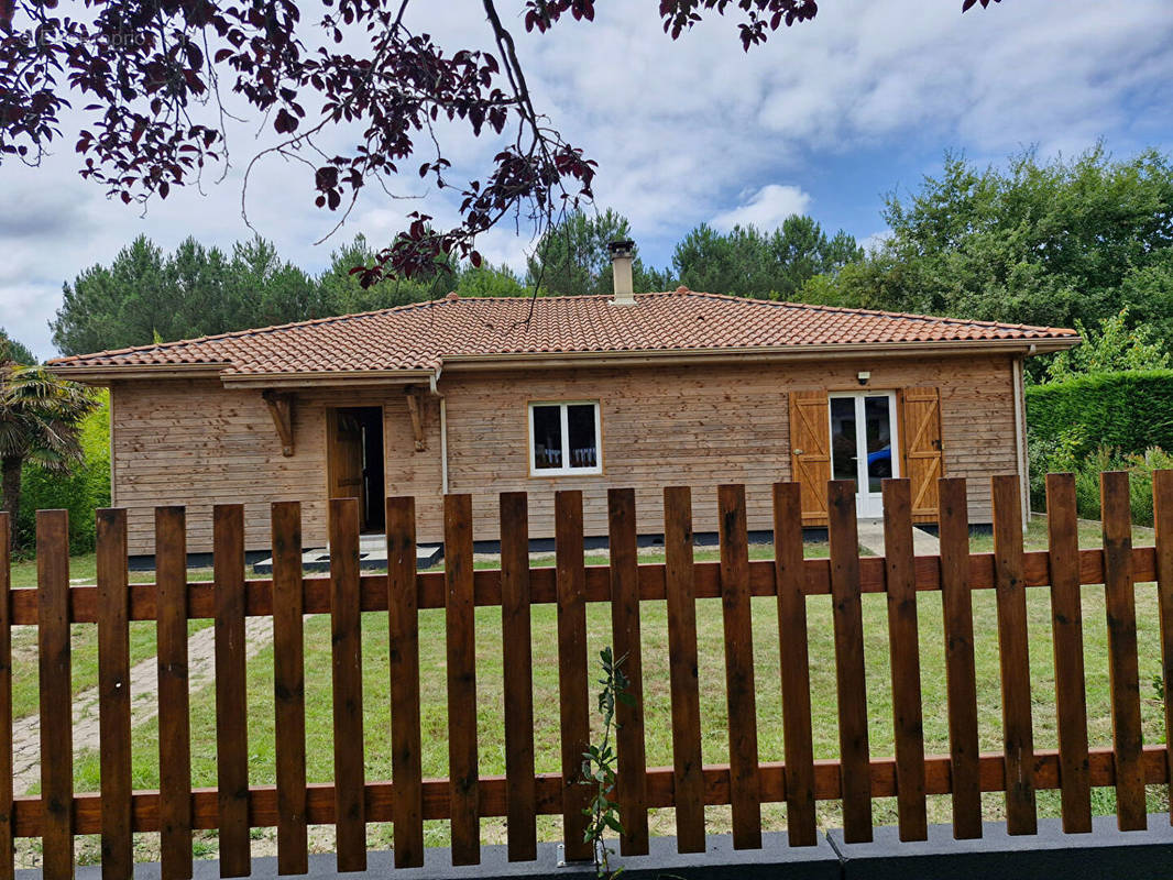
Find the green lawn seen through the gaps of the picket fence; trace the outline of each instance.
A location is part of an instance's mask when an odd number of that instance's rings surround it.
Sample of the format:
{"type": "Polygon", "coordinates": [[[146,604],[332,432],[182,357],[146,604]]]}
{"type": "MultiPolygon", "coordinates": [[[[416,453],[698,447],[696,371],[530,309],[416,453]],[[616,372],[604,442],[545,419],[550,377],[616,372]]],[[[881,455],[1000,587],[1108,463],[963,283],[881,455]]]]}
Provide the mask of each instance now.
{"type": "MultiPolygon", "coordinates": [[[[1138,543],[1151,542],[1151,530],[1138,529],[1138,543]],[[1147,533],[1147,535],[1145,534],[1147,533]]],[[[1098,527],[1091,524],[1082,529],[1084,547],[1098,544],[1098,527]]],[[[976,535],[975,553],[988,551],[989,536],[976,535]]],[[[1045,521],[1035,519],[1026,534],[1028,549],[1045,548],[1045,521]]],[[[769,559],[768,546],[751,546],[754,559],[769,559]]],[[[808,544],[808,556],[826,556],[825,543],[808,544]]],[[[697,560],[717,559],[714,550],[698,550],[697,560]]],[[[663,561],[663,555],[645,551],[644,562],[663,561]]],[[[605,557],[591,554],[589,564],[605,562],[605,557]]],[[[491,562],[479,563],[493,566],[491,562]]],[[[552,557],[537,560],[535,566],[552,564],[552,557]]],[[[940,594],[925,593],[918,596],[920,657],[922,704],[924,706],[924,735],[928,753],[947,753],[948,717],[945,715],[944,645],[941,635],[942,610],[940,594]]],[[[889,678],[887,638],[887,605],[882,595],[863,596],[863,629],[867,668],[868,717],[872,754],[893,754],[893,710],[889,678]]],[[[669,690],[666,609],[663,602],[644,602],[640,607],[643,624],[644,695],[646,713],[646,750],[651,766],[672,764],[671,705],[669,690]]],[[[761,760],[782,759],[781,698],[778,645],[777,604],[771,598],[752,601],[754,628],[754,655],[758,695],[758,737],[761,760]]],[[[832,604],[829,596],[812,596],[807,601],[813,729],[815,757],[838,757],[838,712],[835,690],[835,662],[832,604]]],[[[1089,737],[1092,747],[1111,746],[1111,704],[1107,672],[1107,635],[1101,587],[1083,589],[1084,651],[1086,662],[1086,699],[1089,737]]],[[[1033,709],[1035,744],[1037,749],[1053,749],[1057,745],[1055,712],[1055,662],[1051,645],[1051,609],[1049,594],[1044,588],[1028,590],[1028,614],[1031,663],[1031,704],[1033,709]]],[[[981,747],[983,751],[1001,751],[1001,688],[997,644],[997,612],[992,590],[974,594],[974,617],[976,634],[977,696],[981,747]]],[[[1154,698],[1151,681],[1160,672],[1159,623],[1155,589],[1152,584],[1137,588],[1138,643],[1141,683],[1141,715],[1145,742],[1164,739],[1162,706],[1154,698]]],[[[535,605],[533,610],[534,697],[535,697],[535,758],[538,772],[557,772],[558,716],[557,716],[557,641],[556,609],[551,605],[535,605]]],[[[152,629],[151,624],[143,624],[152,629]]],[[[442,609],[428,609],[420,614],[420,650],[422,686],[422,743],[423,773],[442,778],[447,774],[447,708],[445,684],[445,620],[442,609]]],[[[699,681],[701,702],[701,751],[706,764],[727,760],[727,713],[725,705],[724,635],[719,600],[700,600],[697,603],[697,627],[699,645],[699,681]]],[[[93,630],[93,627],[88,627],[93,630]]],[[[389,730],[389,681],[387,659],[386,617],[381,614],[365,614],[362,617],[364,647],[364,717],[366,777],[368,780],[391,777],[389,730]]],[[[606,605],[592,603],[588,609],[588,644],[590,657],[610,644],[611,628],[606,605]]],[[[306,737],[310,781],[330,781],[333,776],[333,742],[331,722],[330,681],[330,621],[321,615],[306,620],[305,648],[306,669],[306,737]],[[317,670],[317,672],[314,672],[317,670]]],[[[480,772],[482,776],[504,772],[503,752],[503,700],[502,690],[501,616],[499,608],[476,609],[476,670],[477,670],[477,738],[480,743],[480,772]]],[[[141,647],[147,650],[147,644],[141,647]]],[[[81,652],[79,652],[80,655],[81,652]]],[[[75,655],[75,663],[81,659],[75,655]]],[[[272,650],[266,648],[249,665],[249,753],[251,783],[273,781],[273,693],[272,650]]],[[[96,666],[94,666],[96,670],[96,666]]],[[[594,671],[594,670],[592,670],[594,671]]],[[[33,672],[35,681],[35,671],[33,672]]],[[[79,673],[75,676],[81,678],[79,673]]],[[[592,675],[592,679],[595,676],[592,675]]],[[[208,688],[191,698],[192,743],[209,744],[196,747],[192,761],[192,783],[196,786],[216,784],[215,747],[215,689],[208,688]]],[[[157,720],[151,720],[135,732],[134,785],[136,788],[157,787],[157,720]]],[[[86,753],[75,767],[77,791],[96,791],[99,787],[99,757],[86,753]]],[[[1150,808],[1164,810],[1167,805],[1164,788],[1151,788],[1150,808]]],[[[1058,815],[1058,792],[1039,792],[1040,815],[1058,815]]],[[[989,819],[1002,818],[1002,796],[984,796],[985,814],[989,819]]],[[[1093,807],[1097,813],[1114,810],[1111,790],[1094,792],[1093,807]]],[[[710,807],[708,830],[720,833],[728,830],[728,808],[710,807]]],[[[766,805],[762,810],[767,830],[785,827],[785,808],[766,805]]],[[[949,799],[929,799],[930,821],[948,823],[949,799]]],[[[894,824],[896,818],[894,799],[875,801],[877,824],[894,824]]],[[[835,803],[820,803],[820,823],[825,827],[840,824],[835,803]]],[[[672,833],[672,811],[655,811],[651,826],[653,833],[672,833]]],[[[391,830],[385,825],[371,825],[372,847],[389,847],[391,830]]],[[[486,842],[504,840],[504,820],[482,820],[482,839],[486,842]]],[[[560,837],[560,820],[544,817],[540,820],[540,834],[544,839],[560,837]]],[[[156,835],[140,835],[141,858],[155,854],[156,835]]],[[[272,847],[270,831],[257,832],[255,844],[259,852],[272,847]]],[[[312,837],[316,848],[328,849],[331,835],[316,830],[312,837]]],[[[448,842],[445,823],[428,823],[426,840],[429,846],[448,842]]],[[[198,835],[201,853],[212,854],[216,848],[215,833],[198,835]]],[[[91,851],[93,841],[83,848],[91,851]]]]}

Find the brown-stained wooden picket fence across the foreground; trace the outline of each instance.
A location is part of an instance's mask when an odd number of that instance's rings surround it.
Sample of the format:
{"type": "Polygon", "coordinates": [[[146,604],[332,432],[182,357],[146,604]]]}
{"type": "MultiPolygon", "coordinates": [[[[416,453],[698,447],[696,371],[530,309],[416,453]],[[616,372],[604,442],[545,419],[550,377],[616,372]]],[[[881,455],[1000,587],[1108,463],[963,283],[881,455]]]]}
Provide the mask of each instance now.
{"type": "MultiPolygon", "coordinates": [[[[1050,550],[1024,553],[1018,479],[992,480],[995,551],[970,554],[965,483],[940,483],[940,556],[913,554],[907,480],[883,486],[883,557],[861,559],[855,489],[828,483],[830,556],[804,560],[798,483],[773,488],[774,559],[751,561],[741,486],[718,493],[720,562],[693,560],[689,488],[664,490],[663,564],[637,557],[635,494],[609,493],[610,564],[584,564],[582,494],[556,495],[556,566],[530,568],[528,501],[501,495],[501,567],[474,570],[472,502],[445,497],[443,573],[415,569],[412,499],[387,501],[387,575],[359,570],[358,506],[330,503],[331,573],[305,577],[300,510],[272,507],[273,573],[246,580],[239,506],[219,506],[215,519],[215,581],[188,583],[184,510],[156,510],[156,582],[128,584],[127,519],[120,509],[97,516],[97,584],[69,583],[65,512],[38,516],[36,589],[12,589],[0,549],[0,875],[13,875],[14,840],[41,838],[47,878],[74,869],[74,837],[101,834],[103,875],[129,878],[133,834],[158,832],[162,872],[192,871],[194,830],[218,830],[225,876],[250,872],[250,828],[277,828],[280,873],[307,871],[307,825],[337,828],[341,871],[366,866],[368,823],[394,824],[399,867],[423,864],[423,823],[450,824],[455,864],[480,859],[482,817],[508,819],[513,860],[536,858],[536,817],[561,815],[569,859],[590,859],[583,842],[589,788],[578,784],[588,746],[586,603],[609,602],[616,655],[625,656],[632,705],[621,705],[618,727],[622,852],[647,852],[647,811],[676,808],[677,845],[703,852],[706,805],[732,807],[733,842],[760,847],[761,805],[785,803],[793,846],[816,842],[815,803],[842,801],[848,841],[873,834],[873,800],[897,799],[903,840],[924,839],[925,798],[949,794],[957,838],[982,834],[982,792],[1004,792],[1012,834],[1037,827],[1036,792],[1062,788],[1067,832],[1091,828],[1094,786],[1114,786],[1123,830],[1146,824],[1145,785],[1169,780],[1171,746],[1141,740],[1134,584],[1157,582],[1166,685],[1173,683],[1173,472],[1154,481],[1155,547],[1133,548],[1127,474],[1103,475],[1103,549],[1080,550],[1074,483],[1047,478],[1050,550]],[[1080,585],[1104,584],[1107,610],[1113,746],[1089,749],[1084,697],[1080,585]],[[1026,635],[1026,590],[1050,587],[1055,643],[1056,751],[1033,746],[1026,635]],[[971,590],[994,589],[1002,673],[1004,750],[979,753],[971,590]],[[950,753],[927,756],[922,732],[916,593],[940,590],[948,673],[950,753]],[[868,743],[861,594],[887,593],[895,754],[876,758],[868,743]],[[815,760],[807,650],[807,597],[832,596],[838,676],[840,753],[815,760]],[[781,652],[785,753],[759,754],[758,689],[751,597],[775,596],[781,652]],[[696,600],[720,598],[724,615],[728,765],[701,763],[696,600]],[[645,766],[640,603],[666,601],[671,672],[672,767],[645,766]],[[562,772],[535,773],[530,609],[556,603],[562,772]],[[503,777],[481,776],[475,724],[474,609],[501,608],[504,670],[503,777]],[[420,647],[418,614],[446,609],[449,777],[421,774],[420,647]],[[387,615],[391,675],[392,779],[364,777],[360,614],[387,615]],[[303,615],[332,622],[334,774],[306,784],[303,615]],[[273,617],[276,785],[249,785],[245,617],[273,617]],[[192,790],[189,730],[188,621],[215,618],[216,760],[218,785],[192,790]],[[129,693],[130,621],[157,622],[158,791],[131,790],[129,693]],[[96,624],[100,645],[101,791],[74,791],[70,718],[70,623],[96,624]],[[38,627],[40,650],[41,793],[14,797],[12,749],[12,627],[38,627]],[[768,758],[769,760],[764,760],[768,758]],[[778,760],[784,758],[784,760],[778,760]]],[[[659,530],[642,522],[645,532],[659,530]]],[[[9,523],[0,517],[0,548],[9,523]]],[[[1173,716],[1166,704],[1167,735],[1173,716]]],[[[1173,743],[1173,736],[1167,736],[1173,743]]]]}

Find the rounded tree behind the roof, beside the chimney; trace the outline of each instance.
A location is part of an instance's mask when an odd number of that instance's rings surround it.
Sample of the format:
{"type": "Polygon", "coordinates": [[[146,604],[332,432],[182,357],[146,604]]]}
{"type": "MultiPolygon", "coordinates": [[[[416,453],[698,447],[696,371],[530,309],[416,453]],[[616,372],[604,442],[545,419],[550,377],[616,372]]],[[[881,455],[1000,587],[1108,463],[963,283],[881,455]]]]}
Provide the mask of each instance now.
{"type": "MultiPolygon", "coordinates": [[[[610,208],[594,216],[572,211],[538,239],[528,260],[526,285],[542,295],[597,293],[615,290],[611,269],[611,242],[631,238],[628,218],[610,208]]],[[[639,259],[638,248],[631,266],[632,286],[637,293],[667,287],[667,273],[647,269],[639,259]]]]}

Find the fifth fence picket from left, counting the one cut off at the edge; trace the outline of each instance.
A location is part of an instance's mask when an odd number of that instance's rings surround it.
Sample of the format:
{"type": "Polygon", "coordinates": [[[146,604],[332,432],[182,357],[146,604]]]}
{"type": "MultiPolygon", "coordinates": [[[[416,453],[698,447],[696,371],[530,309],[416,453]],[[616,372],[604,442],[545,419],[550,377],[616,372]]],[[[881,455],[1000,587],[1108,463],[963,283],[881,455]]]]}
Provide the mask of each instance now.
{"type": "Polygon", "coordinates": [[[221,876],[248,876],[249,723],[244,659],[244,506],[212,508],[216,582],[216,788],[221,876]]]}

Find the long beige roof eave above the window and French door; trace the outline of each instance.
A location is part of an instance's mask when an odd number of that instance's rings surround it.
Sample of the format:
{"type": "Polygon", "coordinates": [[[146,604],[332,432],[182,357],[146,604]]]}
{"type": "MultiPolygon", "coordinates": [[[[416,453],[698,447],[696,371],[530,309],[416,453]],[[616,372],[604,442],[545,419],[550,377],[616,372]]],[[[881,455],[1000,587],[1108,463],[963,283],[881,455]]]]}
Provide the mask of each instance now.
{"type": "Polygon", "coordinates": [[[825,343],[820,345],[760,346],[752,348],[652,348],[604,352],[523,352],[504,354],[456,354],[445,358],[447,371],[500,370],[502,367],[555,367],[689,363],[753,363],[768,360],[828,360],[845,356],[890,357],[949,354],[1049,354],[1071,348],[1079,337],[1045,339],[952,339],[925,343],[825,343]]]}

